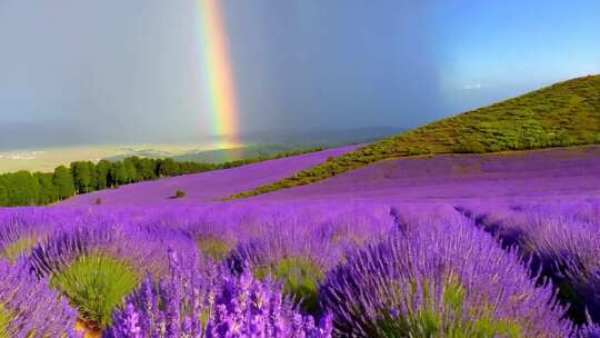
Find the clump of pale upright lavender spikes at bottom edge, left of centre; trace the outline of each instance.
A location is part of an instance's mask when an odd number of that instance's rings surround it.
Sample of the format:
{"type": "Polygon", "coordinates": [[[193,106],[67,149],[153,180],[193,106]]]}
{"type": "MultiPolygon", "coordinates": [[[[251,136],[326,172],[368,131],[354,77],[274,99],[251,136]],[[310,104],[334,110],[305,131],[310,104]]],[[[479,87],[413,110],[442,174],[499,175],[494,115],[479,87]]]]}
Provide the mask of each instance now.
{"type": "Polygon", "coordinates": [[[114,315],[106,337],[330,337],[330,317],[319,325],[294,310],[272,280],[248,269],[234,277],[199,259],[171,252],[170,275],[158,285],[148,277],[114,315]]]}

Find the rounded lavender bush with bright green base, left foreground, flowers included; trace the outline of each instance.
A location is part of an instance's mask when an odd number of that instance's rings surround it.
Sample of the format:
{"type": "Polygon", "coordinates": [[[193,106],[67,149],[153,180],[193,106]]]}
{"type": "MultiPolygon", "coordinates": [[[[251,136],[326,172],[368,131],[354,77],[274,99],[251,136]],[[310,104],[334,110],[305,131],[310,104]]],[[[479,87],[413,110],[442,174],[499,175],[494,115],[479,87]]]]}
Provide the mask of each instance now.
{"type": "Polygon", "coordinates": [[[74,227],[40,242],[30,261],[69,297],[87,327],[104,329],[146,271],[167,271],[166,248],[147,235],[111,223],[74,227]]]}

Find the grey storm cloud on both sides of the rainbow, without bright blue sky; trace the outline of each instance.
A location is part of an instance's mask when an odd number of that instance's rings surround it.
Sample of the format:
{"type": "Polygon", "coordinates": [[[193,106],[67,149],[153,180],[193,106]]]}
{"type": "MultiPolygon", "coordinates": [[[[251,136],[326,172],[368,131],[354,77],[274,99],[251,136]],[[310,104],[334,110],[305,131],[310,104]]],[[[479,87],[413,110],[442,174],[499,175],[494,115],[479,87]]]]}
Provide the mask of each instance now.
{"type": "MultiPolygon", "coordinates": [[[[396,127],[433,109],[420,4],[223,8],[243,131],[396,127]]],[[[24,130],[11,143],[208,136],[198,17],[191,0],[0,2],[0,126],[24,130]]]]}

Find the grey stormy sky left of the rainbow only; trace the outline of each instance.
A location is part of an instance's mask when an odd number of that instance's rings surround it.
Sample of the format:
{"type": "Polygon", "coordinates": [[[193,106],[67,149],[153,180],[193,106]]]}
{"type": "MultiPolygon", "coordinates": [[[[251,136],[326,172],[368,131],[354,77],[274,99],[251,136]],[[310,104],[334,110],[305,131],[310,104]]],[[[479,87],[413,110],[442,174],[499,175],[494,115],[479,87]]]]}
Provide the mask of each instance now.
{"type": "MultiPolygon", "coordinates": [[[[19,122],[58,143],[197,133],[190,4],[0,2],[0,126],[19,122]]],[[[36,137],[21,135],[23,142],[36,137]]]]}

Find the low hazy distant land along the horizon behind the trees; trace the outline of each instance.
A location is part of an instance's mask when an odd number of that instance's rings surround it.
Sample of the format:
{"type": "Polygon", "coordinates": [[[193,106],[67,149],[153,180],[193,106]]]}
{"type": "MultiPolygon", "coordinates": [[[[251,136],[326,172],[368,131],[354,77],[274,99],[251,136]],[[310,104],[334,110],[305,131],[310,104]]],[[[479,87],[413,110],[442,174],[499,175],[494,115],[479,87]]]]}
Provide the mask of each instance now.
{"type": "MultiPolygon", "coordinates": [[[[364,143],[390,137],[402,131],[401,128],[369,127],[354,129],[322,129],[301,130],[297,128],[267,129],[244,131],[236,136],[243,145],[297,145],[301,147],[339,146],[349,143],[364,143]]],[[[0,118],[0,151],[22,149],[48,149],[73,146],[100,146],[100,145],[181,145],[181,143],[218,143],[219,137],[199,136],[177,132],[169,135],[134,132],[122,133],[118,129],[96,129],[90,123],[82,121],[66,121],[60,119],[47,119],[36,121],[7,121],[0,118]]],[[[127,147],[127,146],[123,146],[127,147]]],[[[166,153],[154,153],[153,149],[147,149],[148,157],[164,157],[166,153]]],[[[190,149],[192,150],[192,149],[190,149]]],[[[136,150],[136,151],[139,151],[136,150]]],[[[178,153],[179,155],[179,153],[178,153]]],[[[140,155],[142,156],[142,155],[140,155]]],[[[172,155],[171,155],[172,156],[172,155]]]]}

